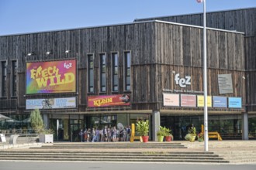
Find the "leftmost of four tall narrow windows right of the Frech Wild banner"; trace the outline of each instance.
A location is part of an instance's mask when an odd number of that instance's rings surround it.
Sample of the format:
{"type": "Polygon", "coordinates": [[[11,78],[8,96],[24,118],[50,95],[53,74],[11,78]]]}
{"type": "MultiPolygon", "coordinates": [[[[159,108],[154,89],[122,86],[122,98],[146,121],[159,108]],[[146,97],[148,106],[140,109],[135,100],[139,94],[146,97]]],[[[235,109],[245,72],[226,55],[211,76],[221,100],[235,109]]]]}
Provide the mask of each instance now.
{"type": "Polygon", "coordinates": [[[88,93],[94,92],[94,57],[88,55],[88,93]]]}

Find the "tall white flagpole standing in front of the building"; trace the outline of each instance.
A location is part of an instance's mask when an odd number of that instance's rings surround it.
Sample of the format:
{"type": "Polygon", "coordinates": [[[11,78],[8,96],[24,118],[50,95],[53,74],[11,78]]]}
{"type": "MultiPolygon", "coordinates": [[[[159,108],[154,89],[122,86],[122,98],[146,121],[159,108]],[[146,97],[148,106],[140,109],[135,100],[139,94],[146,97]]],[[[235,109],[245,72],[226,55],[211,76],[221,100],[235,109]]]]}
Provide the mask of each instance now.
{"type": "Polygon", "coordinates": [[[203,88],[204,88],[204,148],[208,151],[208,107],[207,107],[207,57],[206,57],[206,0],[203,0],[203,88]]]}

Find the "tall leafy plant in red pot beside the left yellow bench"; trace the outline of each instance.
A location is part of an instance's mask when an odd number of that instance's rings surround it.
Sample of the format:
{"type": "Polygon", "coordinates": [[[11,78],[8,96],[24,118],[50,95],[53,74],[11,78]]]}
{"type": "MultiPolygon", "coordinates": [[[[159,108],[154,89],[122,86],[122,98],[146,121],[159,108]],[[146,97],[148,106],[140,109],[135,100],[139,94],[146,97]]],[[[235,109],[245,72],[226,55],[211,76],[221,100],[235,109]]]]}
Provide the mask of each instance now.
{"type": "Polygon", "coordinates": [[[149,132],[149,122],[146,121],[137,121],[136,123],[136,132],[142,137],[143,142],[148,141],[148,132],[149,132]]]}

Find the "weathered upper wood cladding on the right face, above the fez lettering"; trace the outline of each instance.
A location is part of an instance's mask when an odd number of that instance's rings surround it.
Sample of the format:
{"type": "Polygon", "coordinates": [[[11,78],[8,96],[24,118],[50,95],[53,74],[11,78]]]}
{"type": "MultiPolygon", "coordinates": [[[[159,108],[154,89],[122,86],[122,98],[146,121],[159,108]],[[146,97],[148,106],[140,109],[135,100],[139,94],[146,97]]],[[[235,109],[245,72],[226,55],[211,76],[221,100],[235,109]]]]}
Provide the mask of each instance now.
{"type": "MultiPolygon", "coordinates": [[[[202,29],[157,23],[156,63],[202,67],[202,29]]],[[[208,67],[245,70],[244,35],[207,30],[208,67]]]]}

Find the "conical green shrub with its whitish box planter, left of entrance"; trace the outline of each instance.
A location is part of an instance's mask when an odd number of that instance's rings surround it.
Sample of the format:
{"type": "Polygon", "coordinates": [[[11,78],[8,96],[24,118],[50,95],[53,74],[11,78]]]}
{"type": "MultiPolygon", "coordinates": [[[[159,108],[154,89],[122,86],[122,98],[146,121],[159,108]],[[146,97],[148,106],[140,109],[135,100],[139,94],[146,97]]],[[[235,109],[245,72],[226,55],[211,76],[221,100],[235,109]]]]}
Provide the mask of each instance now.
{"type": "Polygon", "coordinates": [[[40,110],[33,110],[30,114],[31,127],[39,134],[39,141],[42,143],[54,143],[54,131],[46,129],[43,124],[43,118],[40,110]]]}

